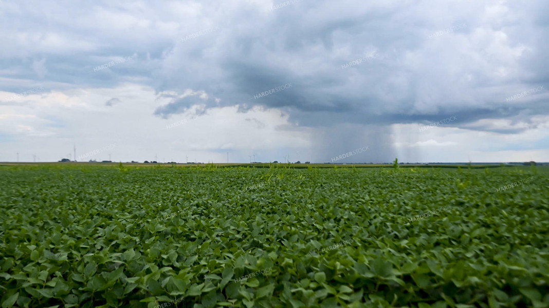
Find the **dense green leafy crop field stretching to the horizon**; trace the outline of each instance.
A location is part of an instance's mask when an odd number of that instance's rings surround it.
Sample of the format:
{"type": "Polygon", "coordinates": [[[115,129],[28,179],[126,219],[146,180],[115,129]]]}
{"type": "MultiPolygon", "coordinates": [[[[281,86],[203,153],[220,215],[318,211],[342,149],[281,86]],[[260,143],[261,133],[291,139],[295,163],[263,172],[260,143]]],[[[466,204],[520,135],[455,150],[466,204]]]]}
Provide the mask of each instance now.
{"type": "Polygon", "coordinates": [[[549,306],[547,168],[160,165],[1,166],[2,306],[549,306]]]}

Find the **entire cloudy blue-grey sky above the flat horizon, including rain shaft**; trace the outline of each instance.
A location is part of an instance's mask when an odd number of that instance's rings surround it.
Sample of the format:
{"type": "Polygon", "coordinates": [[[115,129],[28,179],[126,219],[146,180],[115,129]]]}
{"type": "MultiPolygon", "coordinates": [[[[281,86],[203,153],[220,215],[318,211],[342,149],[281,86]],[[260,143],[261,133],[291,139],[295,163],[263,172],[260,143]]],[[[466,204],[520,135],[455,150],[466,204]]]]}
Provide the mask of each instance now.
{"type": "Polygon", "coordinates": [[[546,12],[0,0],[0,161],[547,162],[546,12]]]}

